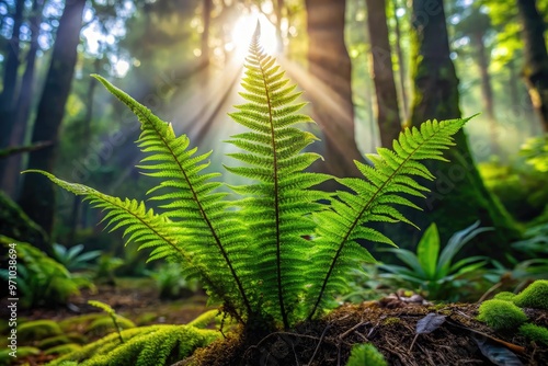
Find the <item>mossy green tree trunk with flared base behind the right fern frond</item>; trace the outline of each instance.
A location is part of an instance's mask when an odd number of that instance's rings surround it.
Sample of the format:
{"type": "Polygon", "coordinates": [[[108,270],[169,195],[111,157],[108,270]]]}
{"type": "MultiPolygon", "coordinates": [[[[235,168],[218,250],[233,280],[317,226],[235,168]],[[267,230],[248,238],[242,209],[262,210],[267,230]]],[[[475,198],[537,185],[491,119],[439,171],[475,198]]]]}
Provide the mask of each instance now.
{"type": "MultiPolygon", "coordinates": [[[[412,19],[412,125],[419,126],[426,119],[458,118],[458,79],[449,58],[443,0],[414,0],[412,19]]],[[[445,155],[450,163],[427,164],[436,180],[426,182],[431,192],[422,203],[424,215],[415,221],[421,228],[436,222],[442,242],[446,242],[452,233],[479,219],[482,226],[492,226],[495,230],[482,235],[481,243],[472,250],[503,259],[501,245],[517,237],[513,221],[483,185],[466,134],[458,133],[455,142],[445,155]]]]}

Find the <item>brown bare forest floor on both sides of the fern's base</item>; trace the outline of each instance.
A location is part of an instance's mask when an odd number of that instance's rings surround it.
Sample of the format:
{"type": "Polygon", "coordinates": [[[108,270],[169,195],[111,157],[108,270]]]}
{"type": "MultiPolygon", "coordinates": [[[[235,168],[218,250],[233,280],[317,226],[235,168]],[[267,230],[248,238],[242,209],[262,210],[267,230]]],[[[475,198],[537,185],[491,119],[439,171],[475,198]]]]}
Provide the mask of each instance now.
{"type": "MultiPolygon", "coordinates": [[[[132,279],[121,281],[116,287],[100,286],[96,293],[83,290],[67,308],[27,310],[21,316],[28,320],[60,321],[99,311],[88,300],[109,304],[137,325],[187,323],[208,309],[202,294],[162,301],[153,286],[132,279]]],[[[512,354],[523,365],[548,365],[548,347],[527,343],[516,332],[494,334],[475,319],[477,310],[476,304],[434,306],[390,296],[380,301],[341,306],[324,319],[297,325],[294,331],[261,334],[259,330],[247,336],[236,333],[176,365],[187,365],[191,361],[208,366],[345,365],[352,345],[364,342],[372,342],[388,365],[520,365],[511,362],[512,354]],[[418,322],[429,313],[435,316],[429,323],[439,324],[431,332],[418,334],[418,322]],[[498,361],[490,362],[489,357],[498,361]]],[[[548,327],[548,311],[535,310],[528,316],[535,323],[548,327]]],[[[19,365],[43,365],[48,361],[52,356],[34,356],[20,359],[23,363],[19,365]]]]}

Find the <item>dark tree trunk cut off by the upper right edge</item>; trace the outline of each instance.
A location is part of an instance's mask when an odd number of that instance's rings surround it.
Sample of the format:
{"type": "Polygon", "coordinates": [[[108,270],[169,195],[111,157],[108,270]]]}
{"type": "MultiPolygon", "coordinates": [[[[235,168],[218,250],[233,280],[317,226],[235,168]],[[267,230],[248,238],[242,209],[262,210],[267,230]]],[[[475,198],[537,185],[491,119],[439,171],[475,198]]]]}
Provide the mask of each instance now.
{"type": "Polygon", "coordinates": [[[545,22],[535,0],[517,0],[517,9],[523,23],[522,37],[525,44],[523,73],[543,129],[548,133],[548,54],[544,37],[545,22]]]}

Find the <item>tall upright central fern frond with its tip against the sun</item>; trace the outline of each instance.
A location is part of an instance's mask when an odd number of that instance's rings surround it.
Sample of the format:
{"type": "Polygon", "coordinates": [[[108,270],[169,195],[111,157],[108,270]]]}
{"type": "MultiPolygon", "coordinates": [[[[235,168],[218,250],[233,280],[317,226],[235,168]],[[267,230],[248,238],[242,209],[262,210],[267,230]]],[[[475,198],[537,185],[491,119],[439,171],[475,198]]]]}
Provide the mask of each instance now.
{"type": "Polygon", "coordinates": [[[259,44],[259,28],[250,46],[246,78],[240,95],[248,103],[238,105],[229,114],[233,121],[251,131],[232,136],[231,142],[243,152],[229,153],[244,163],[226,167],[229,172],[256,181],[232,187],[247,195],[240,202],[241,215],[248,218],[256,270],[248,281],[259,281],[262,291],[262,311],[281,319],[285,328],[298,313],[305,291],[302,272],[310,266],[310,242],[304,239],[315,230],[310,213],[320,209],[316,202],[326,196],[310,186],[326,181],[327,175],[304,173],[321,157],[301,152],[317,140],[310,133],[295,128],[300,123],[313,123],[309,116],[297,114],[304,104],[290,104],[299,95],[296,85],[275,65],[275,59],[263,53],[259,44]],[[274,290],[275,289],[275,290],[274,290]]]}

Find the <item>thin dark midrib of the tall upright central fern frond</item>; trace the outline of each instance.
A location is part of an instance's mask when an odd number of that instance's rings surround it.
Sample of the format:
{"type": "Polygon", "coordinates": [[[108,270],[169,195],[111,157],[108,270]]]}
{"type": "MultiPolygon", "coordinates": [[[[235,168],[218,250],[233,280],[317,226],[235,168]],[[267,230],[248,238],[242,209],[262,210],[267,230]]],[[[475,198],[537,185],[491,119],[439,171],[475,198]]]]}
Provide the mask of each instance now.
{"type": "Polygon", "coordinates": [[[274,130],[274,122],[273,122],[273,111],[272,111],[272,101],[271,93],[269,90],[269,85],[266,84],[266,72],[263,69],[263,65],[261,64],[262,58],[258,49],[254,49],[258,54],[259,67],[261,69],[261,73],[264,80],[264,91],[266,95],[266,102],[269,104],[269,124],[271,126],[271,137],[272,137],[272,156],[273,156],[273,165],[274,165],[274,211],[276,217],[276,271],[277,271],[277,298],[279,301],[279,311],[282,313],[282,320],[284,322],[284,328],[289,329],[289,321],[287,320],[287,312],[285,311],[284,305],[284,294],[282,286],[282,251],[281,251],[281,239],[279,239],[279,187],[278,187],[278,165],[277,165],[277,146],[276,146],[276,135],[274,130]]]}

